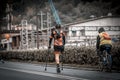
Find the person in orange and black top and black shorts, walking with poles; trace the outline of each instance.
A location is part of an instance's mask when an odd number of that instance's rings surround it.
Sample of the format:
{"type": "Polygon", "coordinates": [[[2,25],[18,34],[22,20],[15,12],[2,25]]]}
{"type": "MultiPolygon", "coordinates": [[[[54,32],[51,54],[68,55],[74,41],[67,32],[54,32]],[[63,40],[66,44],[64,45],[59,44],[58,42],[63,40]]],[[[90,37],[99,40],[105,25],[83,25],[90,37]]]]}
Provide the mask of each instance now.
{"type": "Polygon", "coordinates": [[[61,25],[56,25],[55,29],[51,31],[51,35],[49,38],[49,47],[51,48],[51,42],[54,39],[54,54],[55,61],[57,64],[57,72],[60,72],[60,53],[64,51],[65,45],[65,34],[61,30],[61,25]]]}

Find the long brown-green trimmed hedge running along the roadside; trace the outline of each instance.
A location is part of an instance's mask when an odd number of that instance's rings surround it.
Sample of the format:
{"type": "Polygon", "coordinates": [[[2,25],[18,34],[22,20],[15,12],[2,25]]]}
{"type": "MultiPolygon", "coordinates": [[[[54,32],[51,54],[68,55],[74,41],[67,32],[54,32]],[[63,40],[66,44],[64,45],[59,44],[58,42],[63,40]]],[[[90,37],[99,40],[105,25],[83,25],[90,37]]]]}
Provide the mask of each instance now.
{"type": "MultiPolygon", "coordinates": [[[[116,45],[112,48],[113,64],[120,66],[120,46],[116,45]]],[[[45,62],[46,58],[49,62],[54,62],[53,49],[48,50],[29,50],[29,51],[2,51],[0,54],[6,60],[16,59],[22,61],[38,61],[45,62]]],[[[65,48],[62,54],[63,62],[67,64],[98,64],[98,56],[95,47],[71,47],[65,48]]]]}

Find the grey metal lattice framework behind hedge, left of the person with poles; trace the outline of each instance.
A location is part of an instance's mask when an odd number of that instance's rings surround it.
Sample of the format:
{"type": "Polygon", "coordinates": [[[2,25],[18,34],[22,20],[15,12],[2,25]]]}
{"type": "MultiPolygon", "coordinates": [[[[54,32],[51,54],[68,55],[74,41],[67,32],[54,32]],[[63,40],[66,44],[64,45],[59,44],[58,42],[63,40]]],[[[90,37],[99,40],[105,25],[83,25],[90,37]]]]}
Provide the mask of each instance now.
{"type": "Polygon", "coordinates": [[[21,42],[20,49],[40,49],[48,46],[51,27],[51,14],[49,12],[40,12],[37,15],[37,28],[28,30],[27,20],[22,20],[22,30],[20,31],[21,42]]]}

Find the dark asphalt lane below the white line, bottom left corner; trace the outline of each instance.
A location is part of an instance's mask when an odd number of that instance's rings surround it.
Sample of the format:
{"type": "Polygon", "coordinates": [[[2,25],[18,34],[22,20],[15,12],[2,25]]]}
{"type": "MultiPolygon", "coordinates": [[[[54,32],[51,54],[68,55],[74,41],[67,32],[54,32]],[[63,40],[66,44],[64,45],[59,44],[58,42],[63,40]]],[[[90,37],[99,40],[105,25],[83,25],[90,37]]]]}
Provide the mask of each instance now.
{"type": "Polygon", "coordinates": [[[0,69],[0,80],[66,80],[61,78],[41,76],[14,70],[0,69]]]}

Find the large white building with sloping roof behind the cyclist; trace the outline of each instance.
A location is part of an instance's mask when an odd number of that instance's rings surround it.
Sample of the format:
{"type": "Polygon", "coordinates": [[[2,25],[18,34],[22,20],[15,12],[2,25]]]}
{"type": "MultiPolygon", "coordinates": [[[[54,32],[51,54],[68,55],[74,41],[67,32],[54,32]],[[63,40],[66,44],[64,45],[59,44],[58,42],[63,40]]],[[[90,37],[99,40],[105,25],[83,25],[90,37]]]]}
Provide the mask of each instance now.
{"type": "Polygon", "coordinates": [[[98,29],[103,27],[113,40],[120,39],[120,16],[105,16],[66,24],[67,42],[73,45],[95,45],[98,29]]]}

